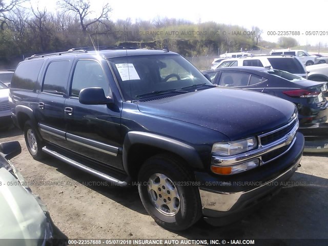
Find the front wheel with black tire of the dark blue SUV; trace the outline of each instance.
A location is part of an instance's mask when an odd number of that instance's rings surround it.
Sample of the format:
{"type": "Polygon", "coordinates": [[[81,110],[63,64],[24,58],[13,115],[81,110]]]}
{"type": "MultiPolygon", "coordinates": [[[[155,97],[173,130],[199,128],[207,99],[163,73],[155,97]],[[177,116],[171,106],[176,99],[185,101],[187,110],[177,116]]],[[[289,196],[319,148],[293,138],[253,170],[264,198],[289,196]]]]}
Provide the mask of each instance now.
{"type": "Polygon", "coordinates": [[[184,164],[169,154],[156,155],[145,161],[138,175],[142,204],[155,222],[168,230],[185,230],[201,216],[198,187],[183,183],[195,181],[184,164]]]}

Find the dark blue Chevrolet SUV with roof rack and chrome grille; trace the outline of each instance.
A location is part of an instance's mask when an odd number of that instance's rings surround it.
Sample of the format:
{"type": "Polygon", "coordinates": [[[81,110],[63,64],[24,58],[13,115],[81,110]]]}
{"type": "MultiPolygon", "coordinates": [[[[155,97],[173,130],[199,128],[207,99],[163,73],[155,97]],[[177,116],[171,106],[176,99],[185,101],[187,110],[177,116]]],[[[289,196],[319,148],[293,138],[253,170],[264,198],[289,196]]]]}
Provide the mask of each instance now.
{"type": "Polygon", "coordinates": [[[104,49],[18,65],[11,112],[33,158],[137,183],[148,213],[170,230],[201,216],[232,222],[297,169],[304,138],[294,104],[216,87],[168,50],[104,49]]]}

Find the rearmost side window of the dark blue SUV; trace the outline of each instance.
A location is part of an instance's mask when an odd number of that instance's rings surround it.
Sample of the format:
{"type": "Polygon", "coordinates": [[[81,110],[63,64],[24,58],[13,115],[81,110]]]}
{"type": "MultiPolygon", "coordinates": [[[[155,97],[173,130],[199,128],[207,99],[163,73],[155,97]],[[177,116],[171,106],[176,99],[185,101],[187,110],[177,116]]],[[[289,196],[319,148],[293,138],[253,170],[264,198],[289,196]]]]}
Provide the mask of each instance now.
{"type": "Polygon", "coordinates": [[[34,90],[44,60],[28,60],[18,65],[11,79],[11,88],[34,90]]]}

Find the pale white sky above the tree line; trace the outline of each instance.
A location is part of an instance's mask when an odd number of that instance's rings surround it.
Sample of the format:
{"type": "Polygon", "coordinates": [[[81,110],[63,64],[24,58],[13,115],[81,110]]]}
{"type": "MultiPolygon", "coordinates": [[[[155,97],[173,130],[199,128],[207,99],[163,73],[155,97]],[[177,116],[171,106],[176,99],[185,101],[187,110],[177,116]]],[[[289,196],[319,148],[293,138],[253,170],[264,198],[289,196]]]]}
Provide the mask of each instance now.
{"type": "MultiPolygon", "coordinates": [[[[32,5],[46,6],[48,11],[56,9],[56,0],[32,0],[32,5]]],[[[94,13],[100,11],[104,3],[109,3],[112,10],[110,18],[131,18],[153,20],[156,17],[168,17],[198,22],[217,22],[238,25],[251,29],[257,26],[263,30],[262,39],[277,42],[280,31],[299,31],[299,35],[290,35],[300,45],[328,44],[327,9],[328,1],[295,1],[295,0],[166,0],[166,1],[122,1],[122,0],[90,0],[94,13]],[[313,35],[309,31],[321,31],[323,35],[313,35]],[[269,32],[269,33],[268,33],[269,32]],[[268,35],[268,34],[275,35],[268,35]],[[274,33],[276,32],[276,33],[274,33]],[[306,35],[309,34],[309,35],[306,35]]]]}

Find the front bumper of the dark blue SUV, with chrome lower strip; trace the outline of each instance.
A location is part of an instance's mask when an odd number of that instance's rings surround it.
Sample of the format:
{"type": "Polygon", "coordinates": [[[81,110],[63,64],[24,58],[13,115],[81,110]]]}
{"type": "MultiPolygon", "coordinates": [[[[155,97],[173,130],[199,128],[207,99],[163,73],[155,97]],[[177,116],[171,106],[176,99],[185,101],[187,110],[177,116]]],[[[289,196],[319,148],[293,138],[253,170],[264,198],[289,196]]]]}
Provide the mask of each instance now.
{"type": "Polygon", "coordinates": [[[231,177],[195,172],[202,212],[215,225],[234,222],[260,201],[270,198],[296,171],[302,157],[304,137],[297,133],[293,147],[275,161],[231,177]],[[235,176],[235,177],[234,177],[235,176]]]}

